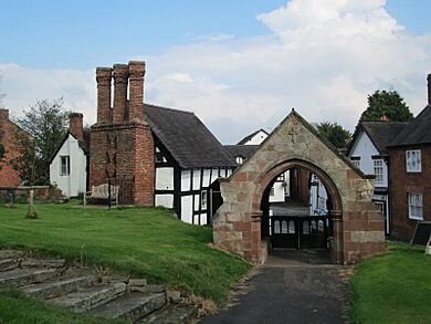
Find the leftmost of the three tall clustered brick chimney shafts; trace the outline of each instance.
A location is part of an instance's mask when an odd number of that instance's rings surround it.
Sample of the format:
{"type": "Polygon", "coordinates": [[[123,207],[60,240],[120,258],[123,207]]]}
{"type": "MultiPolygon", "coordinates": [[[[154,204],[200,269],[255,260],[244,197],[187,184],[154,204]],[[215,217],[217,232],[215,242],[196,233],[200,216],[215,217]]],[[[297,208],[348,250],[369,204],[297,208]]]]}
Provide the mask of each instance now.
{"type": "Polygon", "coordinates": [[[112,122],[111,116],[111,67],[97,67],[96,81],[97,81],[97,123],[109,124],[112,122]]]}

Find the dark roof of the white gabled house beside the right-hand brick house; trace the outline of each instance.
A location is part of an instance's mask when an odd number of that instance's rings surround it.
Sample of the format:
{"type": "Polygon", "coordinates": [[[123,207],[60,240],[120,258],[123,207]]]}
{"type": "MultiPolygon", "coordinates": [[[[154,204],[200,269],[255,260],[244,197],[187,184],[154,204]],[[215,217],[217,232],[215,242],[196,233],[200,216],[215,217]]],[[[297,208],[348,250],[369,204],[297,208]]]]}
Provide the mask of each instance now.
{"type": "Polygon", "coordinates": [[[387,155],[387,146],[402,132],[409,123],[402,122],[360,122],[356,127],[353,140],[347,149],[347,156],[354,149],[361,132],[365,132],[380,155],[387,155]]]}

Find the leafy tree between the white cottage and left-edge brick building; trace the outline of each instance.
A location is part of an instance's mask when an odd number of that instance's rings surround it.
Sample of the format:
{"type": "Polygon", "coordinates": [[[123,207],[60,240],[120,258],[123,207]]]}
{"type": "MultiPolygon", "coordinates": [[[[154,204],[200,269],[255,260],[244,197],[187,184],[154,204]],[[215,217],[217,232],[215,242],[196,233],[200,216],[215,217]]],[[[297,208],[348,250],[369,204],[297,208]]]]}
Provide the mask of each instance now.
{"type": "Polygon", "coordinates": [[[12,160],[21,179],[29,185],[50,184],[50,159],[67,132],[70,112],[63,98],[38,101],[15,123],[24,132],[15,134],[18,157],[12,160]],[[30,136],[29,136],[30,134],[30,136]]]}

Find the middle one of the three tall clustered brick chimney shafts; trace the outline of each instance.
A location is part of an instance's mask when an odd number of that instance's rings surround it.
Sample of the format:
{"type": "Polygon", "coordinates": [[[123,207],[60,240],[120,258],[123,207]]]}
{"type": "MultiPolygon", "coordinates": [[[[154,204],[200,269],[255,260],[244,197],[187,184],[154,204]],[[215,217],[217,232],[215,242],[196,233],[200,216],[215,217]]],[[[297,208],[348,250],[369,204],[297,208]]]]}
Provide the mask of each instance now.
{"type": "Polygon", "coordinates": [[[128,65],[114,65],[114,124],[124,123],[127,108],[128,65]]]}

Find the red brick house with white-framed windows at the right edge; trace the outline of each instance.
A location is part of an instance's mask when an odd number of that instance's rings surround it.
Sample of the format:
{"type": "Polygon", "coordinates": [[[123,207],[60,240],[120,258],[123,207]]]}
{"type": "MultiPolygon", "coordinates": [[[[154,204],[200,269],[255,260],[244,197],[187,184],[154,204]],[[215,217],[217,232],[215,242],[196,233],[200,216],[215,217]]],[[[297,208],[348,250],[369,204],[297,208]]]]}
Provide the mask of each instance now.
{"type": "Polygon", "coordinates": [[[431,221],[431,74],[428,105],[388,146],[391,236],[409,240],[431,221]]]}

